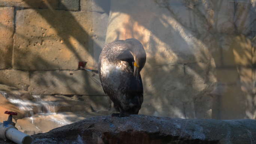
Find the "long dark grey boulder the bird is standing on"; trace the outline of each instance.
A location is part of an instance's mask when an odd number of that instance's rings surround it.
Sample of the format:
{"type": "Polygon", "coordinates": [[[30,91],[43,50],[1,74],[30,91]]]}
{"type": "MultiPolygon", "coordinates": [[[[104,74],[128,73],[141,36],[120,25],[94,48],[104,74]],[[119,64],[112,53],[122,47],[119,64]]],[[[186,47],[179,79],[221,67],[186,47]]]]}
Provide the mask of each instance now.
{"type": "Polygon", "coordinates": [[[97,116],[36,134],[34,144],[251,144],[256,120],[97,116]]]}

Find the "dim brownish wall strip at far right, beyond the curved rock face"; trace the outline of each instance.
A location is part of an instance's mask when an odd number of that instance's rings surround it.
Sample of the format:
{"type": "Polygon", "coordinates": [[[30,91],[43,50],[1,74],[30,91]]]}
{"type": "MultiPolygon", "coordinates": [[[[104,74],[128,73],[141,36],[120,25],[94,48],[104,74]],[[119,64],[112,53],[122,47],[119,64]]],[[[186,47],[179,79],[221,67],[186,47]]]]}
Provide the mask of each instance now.
{"type": "Polygon", "coordinates": [[[218,1],[214,16],[213,58],[217,89],[214,93],[214,119],[256,119],[255,24],[256,1],[218,1]]]}

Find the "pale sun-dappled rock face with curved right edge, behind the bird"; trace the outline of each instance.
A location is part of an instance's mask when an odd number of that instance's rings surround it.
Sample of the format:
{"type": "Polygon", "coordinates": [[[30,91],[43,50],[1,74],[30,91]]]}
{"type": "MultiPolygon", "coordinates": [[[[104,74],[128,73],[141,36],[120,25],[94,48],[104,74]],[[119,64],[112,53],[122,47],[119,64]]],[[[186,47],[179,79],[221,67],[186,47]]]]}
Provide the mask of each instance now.
{"type": "MultiPolygon", "coordinates": [[[[191,13],[186,4],[177,3],[177,13],[191,13]]],[[[113,0],[106,43],[136,38],[146,50],[147,62],[141,71],[145,107],[141,114],[211,118],[211,108],[204,112],[195,108],[196,101],[207,98],[216,86],[215,64],[208,49],[210,37],[205,37],[208,25],[198,21],[202,24],[198,33],[198,24],[187,27],[189,16],[178,18],[163,4],[113,0]]]]}

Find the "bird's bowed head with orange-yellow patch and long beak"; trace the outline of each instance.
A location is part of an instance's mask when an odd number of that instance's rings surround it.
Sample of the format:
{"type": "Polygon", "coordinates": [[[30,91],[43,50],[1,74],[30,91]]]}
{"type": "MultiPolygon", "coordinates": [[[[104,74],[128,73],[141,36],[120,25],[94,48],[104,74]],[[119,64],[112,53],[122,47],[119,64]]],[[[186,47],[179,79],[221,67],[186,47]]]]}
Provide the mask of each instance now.
{"type": "Polygon", "coordinates": [[[146,52],[141,42],[137,39],[125,40],[130,46],[130,51],[134,57],[134,77],[138,80],[140,71],[146,63],[146,52]]]}

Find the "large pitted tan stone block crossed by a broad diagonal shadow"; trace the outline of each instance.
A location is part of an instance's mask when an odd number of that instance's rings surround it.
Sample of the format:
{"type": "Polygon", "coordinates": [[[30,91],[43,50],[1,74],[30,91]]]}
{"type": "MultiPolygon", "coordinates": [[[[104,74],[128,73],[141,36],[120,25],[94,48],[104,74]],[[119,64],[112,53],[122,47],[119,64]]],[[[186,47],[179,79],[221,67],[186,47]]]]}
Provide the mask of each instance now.
{"type": "Polygon", "coordinates": [[[16,14],[14,65],[20,70],[77,70],[93,65],[86,12],[26,9],[16,14]]]}

